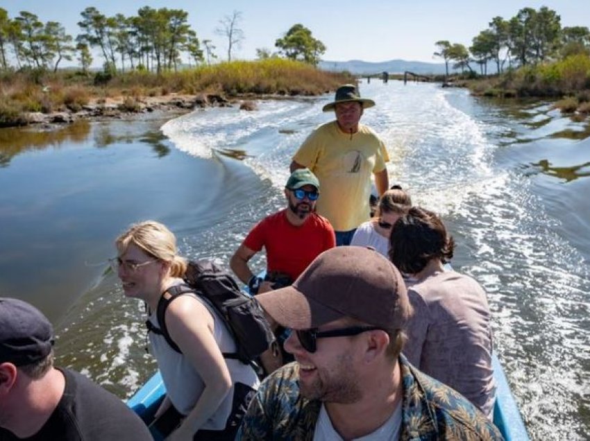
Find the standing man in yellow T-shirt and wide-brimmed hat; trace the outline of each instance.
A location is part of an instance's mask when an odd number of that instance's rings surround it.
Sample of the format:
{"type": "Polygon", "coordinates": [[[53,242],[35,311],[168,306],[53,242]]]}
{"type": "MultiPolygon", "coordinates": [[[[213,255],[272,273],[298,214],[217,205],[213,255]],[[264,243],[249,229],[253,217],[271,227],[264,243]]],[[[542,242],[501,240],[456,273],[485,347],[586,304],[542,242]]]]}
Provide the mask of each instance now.
{"type": "Polygon", "coordinates": [[[360,123],[364,109],[375,102],[361,98],[355,85],[338,87],[335,101],[323,106],[334,110],[335,121],[316,128],[297,150],[291,171],[307,167],[322,187],[317,211],[330,220],[337,245],[350,245],[356,228],[369,220],[371,174],[379,196],[389,187],[383,141],[360,123]]]}

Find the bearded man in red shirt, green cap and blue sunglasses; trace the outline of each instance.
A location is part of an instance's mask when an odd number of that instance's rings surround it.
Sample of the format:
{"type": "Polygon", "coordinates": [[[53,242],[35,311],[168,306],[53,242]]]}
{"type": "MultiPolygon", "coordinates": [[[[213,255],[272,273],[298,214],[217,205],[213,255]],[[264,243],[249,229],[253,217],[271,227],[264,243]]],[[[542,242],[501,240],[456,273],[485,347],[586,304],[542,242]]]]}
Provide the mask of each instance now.
{"type": "Polygon", "coordinates": [[[308,168],[299,168],[289,176],[285,198],[287,208],[255,225],[230,259],[233,272],[253,294],[291,284],[321,252],[335,246],[332,225],[315,212],[319,181],[308,168]],[[264,280],[248,267],[248,261],[263,247],[267,253],[264,280]]]}

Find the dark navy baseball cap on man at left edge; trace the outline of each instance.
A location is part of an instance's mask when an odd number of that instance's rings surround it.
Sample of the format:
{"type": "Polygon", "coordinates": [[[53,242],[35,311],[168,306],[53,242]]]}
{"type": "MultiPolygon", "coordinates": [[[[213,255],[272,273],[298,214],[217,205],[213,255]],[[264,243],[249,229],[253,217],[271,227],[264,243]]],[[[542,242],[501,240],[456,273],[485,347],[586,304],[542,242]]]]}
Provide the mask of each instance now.
{"type": "Polygon", "coordinates": [[[51,352],[53,327],[35,306],[0,297],[0,363],[15,366],[40,361],[51,352]]]}

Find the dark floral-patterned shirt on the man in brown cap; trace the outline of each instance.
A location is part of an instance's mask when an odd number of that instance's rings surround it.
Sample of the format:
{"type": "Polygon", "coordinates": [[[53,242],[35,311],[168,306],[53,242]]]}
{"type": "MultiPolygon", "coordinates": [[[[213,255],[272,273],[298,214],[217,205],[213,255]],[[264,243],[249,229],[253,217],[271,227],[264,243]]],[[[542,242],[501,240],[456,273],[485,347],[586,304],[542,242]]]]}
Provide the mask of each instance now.
{"type": "MultiPolygon", "coordinates": [[[[455,390],[416,370],[403,355],[401,440],[503,440],[498,428],[455,390]]],[[[298,365],[267,378],[252,400],[236,440],[312,441],[321,401],[299,395],[298,365]]]]}

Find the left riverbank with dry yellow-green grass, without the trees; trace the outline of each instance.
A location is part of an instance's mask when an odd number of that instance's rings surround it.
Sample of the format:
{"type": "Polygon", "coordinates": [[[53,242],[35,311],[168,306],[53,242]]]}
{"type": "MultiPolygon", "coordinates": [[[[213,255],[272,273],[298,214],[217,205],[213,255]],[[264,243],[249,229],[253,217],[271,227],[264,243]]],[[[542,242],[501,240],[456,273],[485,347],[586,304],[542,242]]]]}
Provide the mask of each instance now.
{"type": "Polygon", "coordinates": [[[155,110],[193,110],[253,98],[317,96],[353,78],[281,58],[235,61],[155,74],[17,71],[0,77],[0,127],[118,119],[155,110]]]}

